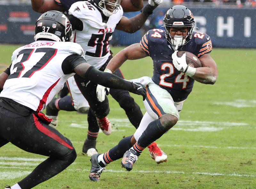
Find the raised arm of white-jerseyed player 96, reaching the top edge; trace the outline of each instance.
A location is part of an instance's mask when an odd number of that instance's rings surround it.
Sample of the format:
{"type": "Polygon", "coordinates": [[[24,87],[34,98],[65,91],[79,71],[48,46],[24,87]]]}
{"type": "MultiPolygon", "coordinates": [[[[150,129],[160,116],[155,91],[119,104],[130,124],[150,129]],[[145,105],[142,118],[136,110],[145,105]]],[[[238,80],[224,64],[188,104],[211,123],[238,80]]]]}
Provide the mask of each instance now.
{"type": "Polygon", "coordinates": [[[148,0],[148,4],[141,9],[141,13],[129,19],[123,16],[116,25],[116,29],[131,34],[138,31],[144,25],[148,16],[151,15],[153,10],[162,2],[163,0],[148,0]]]}

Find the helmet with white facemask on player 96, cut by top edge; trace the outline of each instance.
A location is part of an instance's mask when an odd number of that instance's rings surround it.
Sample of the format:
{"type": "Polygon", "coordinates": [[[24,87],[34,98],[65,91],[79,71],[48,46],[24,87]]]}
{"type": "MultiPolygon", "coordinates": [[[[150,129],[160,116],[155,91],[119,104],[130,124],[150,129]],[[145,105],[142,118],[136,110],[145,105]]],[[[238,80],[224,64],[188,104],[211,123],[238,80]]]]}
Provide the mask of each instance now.
{"type": "Polygon", "coordinates": [[[121,3],[121,0],[91,0],[93,1],[94,5],[97,6],[101,11],[102,13],[109,17],[111,16],[112,14],[115,14],[118,9],[120,8],[120,3],[121,3]],[[107,9],[107,6],[111,7],[112,8],[112,11],[109,11],[107,9]]]}

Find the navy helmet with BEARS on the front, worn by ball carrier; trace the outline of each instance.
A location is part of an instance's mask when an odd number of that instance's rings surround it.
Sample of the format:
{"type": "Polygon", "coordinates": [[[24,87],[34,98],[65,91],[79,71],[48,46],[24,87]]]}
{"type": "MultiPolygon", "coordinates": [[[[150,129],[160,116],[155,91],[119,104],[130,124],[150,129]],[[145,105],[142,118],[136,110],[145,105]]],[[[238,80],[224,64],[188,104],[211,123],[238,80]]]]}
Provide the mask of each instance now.
{"type": "Polygon", "coordinates": [[[183,5],[173,6],[164,15],[165,38],[171,45],[180,47],[187,44],[192,38],[194,26],[195,21],[192,12],[183,5]],[[188,27],[188,34],[186,36],[171,36],[170,28],[179,27],[188,27]]]}

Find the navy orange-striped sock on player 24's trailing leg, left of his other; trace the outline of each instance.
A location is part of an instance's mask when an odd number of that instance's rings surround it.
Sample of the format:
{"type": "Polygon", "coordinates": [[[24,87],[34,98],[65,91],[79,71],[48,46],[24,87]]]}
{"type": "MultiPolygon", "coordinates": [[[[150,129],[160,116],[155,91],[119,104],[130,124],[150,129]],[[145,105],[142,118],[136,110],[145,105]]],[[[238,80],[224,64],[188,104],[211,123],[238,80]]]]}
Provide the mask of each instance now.
{"type": "Polygon", "coordinates": [[[131,138],[132,136],[129,136],[120,140],[118,145],[111,148],[110,150],[108,150],[108,152],[106,152],[103,155],[103,160],[108,164],[111,161],[115,161],[122,158],[124,153],[132,147],[131,138]]]}

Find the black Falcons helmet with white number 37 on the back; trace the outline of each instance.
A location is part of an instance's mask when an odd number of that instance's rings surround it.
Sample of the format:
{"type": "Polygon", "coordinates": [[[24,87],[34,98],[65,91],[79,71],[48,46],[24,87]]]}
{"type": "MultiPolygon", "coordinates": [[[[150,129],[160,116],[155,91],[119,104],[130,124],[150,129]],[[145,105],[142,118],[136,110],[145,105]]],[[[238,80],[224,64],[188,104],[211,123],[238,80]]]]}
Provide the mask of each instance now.
{"type": "Polygon", "coordinates": [[[71,41],[72,26],[68,18],[59,11],[48,11],[36,21],[35,41],[51,39],[53,41],[71,41]]]}

